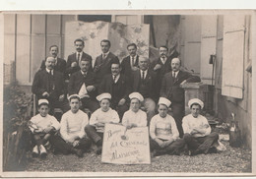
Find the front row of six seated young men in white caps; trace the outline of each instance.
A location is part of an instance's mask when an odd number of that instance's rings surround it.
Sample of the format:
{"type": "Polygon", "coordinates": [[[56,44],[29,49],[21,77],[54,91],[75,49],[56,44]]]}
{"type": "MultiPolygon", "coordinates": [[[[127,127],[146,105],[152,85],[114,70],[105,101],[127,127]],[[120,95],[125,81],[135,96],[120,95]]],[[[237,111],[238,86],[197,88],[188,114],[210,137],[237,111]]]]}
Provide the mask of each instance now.
{"type": "MultiPolygon", "coordinates": [[[[107,123],[123,125],[130,130],[136,127],[148,126],[147,114],[140,109],[144,97],[139,92],[129,94],[130,109],[123,115],[122,122],[117,112],[110,107],[111,94],[101,93],[96,96],[100,107],[88,115],[80,110],[81,98],[78,94],[69,96],[70,110],[63,114],[60,123],[55,117],[48,114],[49,102],[47,99],[38,100],[39,113],[32,117],[29,127],[32,130],[34,147],[32,154],[45,157],[45,147],[53,149],[54,153],[75,153],[79,157],[90,150],[92,142],[96,144],[96,154],[101,153],[104,127],[107,123]]],[[[172,116],[168,115],[171,104],[165,97],[160,97],[158,112],[150,123],[150,149],[152,155],[177,154],[186,152],[189,155],[217,152],[215,147],[219,135],[211,133],[208,120],[200,115],[204,103],[198,99],[190,99],[188,105],[191,114],[183,118],[185,135],[179,138],[179,133],[172,116]]]]}

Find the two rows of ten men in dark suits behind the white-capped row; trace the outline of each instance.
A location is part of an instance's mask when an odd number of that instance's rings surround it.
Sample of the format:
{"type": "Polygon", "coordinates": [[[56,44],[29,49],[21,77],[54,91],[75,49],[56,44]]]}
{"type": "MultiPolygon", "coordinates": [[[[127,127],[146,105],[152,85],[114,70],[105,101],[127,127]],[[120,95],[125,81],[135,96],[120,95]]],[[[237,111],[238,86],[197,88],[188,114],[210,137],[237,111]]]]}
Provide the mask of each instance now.
{"type": "Polygon", "coordinates": [[[34,76],[32,92],[39,99],[48,99],[51,110],[60,107],[67,111],[66,94],[79,94],[82,108],[94,112],[99,107],[96,95],[108,92],[112,96],[111,108],[122,119],[129,109],[128,94],[138,91],[144,97],[142,109],[147,112],[148,124],[157,112],[159,97],[166,97],[172,102],[170,108],[179,136],[183,136],[181,124],[185,100],[184,89],[180,86],[187,82],[200,82],[200,78],[180,70],[181,61],[175,57],[177,54],[167,57],[168,48],[160,46],[160,58],[150,63],[148,58],[137,54],[136,44],[131,43],[127,46],[130,55],[120,64],[109,51],[110,41],[103,39],[100,42],[102,54],[96,57],[93,68],[92,57],[83,52],[85,42],[76,39],[74,45],[76,53],[69,55],[67,62],[57,57],[58,47],[51,46],[51,56],[42,62],[41,70],[34,76]]]}

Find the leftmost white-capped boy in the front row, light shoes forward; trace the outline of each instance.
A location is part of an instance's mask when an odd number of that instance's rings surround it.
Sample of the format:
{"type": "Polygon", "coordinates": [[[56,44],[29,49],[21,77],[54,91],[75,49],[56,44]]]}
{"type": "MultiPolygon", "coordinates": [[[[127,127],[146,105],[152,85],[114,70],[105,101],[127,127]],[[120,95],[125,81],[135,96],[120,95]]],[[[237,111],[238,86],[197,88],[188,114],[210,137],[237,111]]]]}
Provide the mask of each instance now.
{"type": "Polygon", "coordinates": [[[29,127],[32,131],[32,139],[35,146],[32,149],[32,155],[45,157],[47,154],[44,148],[48,144],[49,138],[59,130],[60,125],[55,117],[48,114],[49,102],[46,99],[38,100],[39,114],[32,117],[29,121],[29,127]]]}

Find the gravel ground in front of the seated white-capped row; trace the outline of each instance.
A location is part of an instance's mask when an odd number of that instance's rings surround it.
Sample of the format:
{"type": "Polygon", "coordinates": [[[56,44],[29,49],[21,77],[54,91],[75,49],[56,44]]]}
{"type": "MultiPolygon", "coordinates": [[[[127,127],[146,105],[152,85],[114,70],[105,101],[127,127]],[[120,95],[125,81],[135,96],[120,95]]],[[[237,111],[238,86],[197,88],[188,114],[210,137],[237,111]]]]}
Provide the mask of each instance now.
{"type": "Polygon", "coordinates": [[[74,154],[53,155],[45,159],[32,158],[27,171],[72,171],[72,172],[188,172],[188,173],[244,173],[252,172],[251,151],[231,148],[222,142],[226,150],[213,154],[162,155],[153,157],[150,165],[117,165],[101,163],[101,155],[94,151],[85,153],[83,158],[74,154]]]}

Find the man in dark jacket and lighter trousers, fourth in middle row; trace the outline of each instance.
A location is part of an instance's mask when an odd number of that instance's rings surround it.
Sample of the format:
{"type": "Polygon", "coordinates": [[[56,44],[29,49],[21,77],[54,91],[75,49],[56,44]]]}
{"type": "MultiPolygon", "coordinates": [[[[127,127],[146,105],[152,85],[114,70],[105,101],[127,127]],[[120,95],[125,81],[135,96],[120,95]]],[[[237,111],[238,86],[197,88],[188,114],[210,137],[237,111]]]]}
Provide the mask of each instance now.
{"type": "Polygon", "coordinates": [[[148,124],[151,118],[156,114],[156,101],[157,99],[157,76],[156,73],[149,69],[149,58],[139,57],[139,70],[133,73],[132,78],[132,91],[140,92],[144,101],[142,107],[147,112],[148,124]]]}

